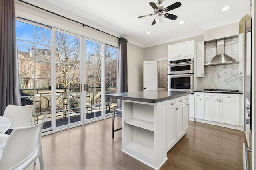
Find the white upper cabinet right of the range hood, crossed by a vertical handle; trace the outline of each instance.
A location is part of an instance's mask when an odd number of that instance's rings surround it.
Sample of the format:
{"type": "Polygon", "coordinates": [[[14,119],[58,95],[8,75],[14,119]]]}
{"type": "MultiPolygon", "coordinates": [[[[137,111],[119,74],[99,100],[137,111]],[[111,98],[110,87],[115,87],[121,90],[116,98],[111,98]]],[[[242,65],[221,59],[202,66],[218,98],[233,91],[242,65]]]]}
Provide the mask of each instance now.
{"type": "MultiPolygon", "coordinates": [[[[244,34],[239,34],[239,75],[243,75],[244,34]]],[[[251,74],[251,32],[247,33],[246,74],[251,74]]]]}

